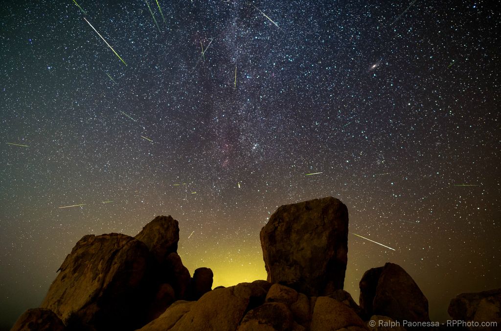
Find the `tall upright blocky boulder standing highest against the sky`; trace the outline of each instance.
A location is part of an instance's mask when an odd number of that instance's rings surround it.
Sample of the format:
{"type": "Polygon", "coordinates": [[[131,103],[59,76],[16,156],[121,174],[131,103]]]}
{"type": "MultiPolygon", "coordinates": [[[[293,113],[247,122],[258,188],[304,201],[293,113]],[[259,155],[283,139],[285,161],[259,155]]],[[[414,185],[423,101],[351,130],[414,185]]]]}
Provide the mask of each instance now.
{"type": "Polygon", "coordinates": [[[348,209],[329,196],[283,205],[261,229],[268,281],[306,295],[342,289],[348,261],[348,209]]]}

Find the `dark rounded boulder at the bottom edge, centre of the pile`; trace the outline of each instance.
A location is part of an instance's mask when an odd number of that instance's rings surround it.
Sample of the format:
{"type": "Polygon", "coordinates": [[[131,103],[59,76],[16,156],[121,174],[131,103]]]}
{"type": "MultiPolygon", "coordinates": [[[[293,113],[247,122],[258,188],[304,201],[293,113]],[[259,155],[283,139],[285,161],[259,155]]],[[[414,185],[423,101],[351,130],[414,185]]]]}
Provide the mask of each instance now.
{"type": "Polygon", "coordinates": [[[281,302],[271,302],[249,310],[237,331],[292,331],[294,324],[294,317],[287,305],[281,302]]]}

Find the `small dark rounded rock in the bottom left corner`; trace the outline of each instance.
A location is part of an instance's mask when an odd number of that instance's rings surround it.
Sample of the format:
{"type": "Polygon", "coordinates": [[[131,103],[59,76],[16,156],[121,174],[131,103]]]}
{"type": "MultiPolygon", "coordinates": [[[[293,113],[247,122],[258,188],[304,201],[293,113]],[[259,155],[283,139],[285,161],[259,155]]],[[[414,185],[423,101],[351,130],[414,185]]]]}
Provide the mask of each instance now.
{"type": "Polygon", "coordinates": [[[65,331],[63,321],[46,308],[26,310],[16,321],[11,331],[65,331]]]}

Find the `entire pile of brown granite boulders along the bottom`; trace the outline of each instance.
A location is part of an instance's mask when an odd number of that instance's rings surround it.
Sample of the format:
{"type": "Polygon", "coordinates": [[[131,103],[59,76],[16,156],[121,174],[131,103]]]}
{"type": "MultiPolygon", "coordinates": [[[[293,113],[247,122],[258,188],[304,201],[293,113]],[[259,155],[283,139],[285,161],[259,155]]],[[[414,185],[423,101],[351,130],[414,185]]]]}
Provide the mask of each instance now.
{"type": "MultiPolygon", "coordinates": [[[[135,237],[85,235],[42,306],[28,309],[12,330],[383,331],[405,329],[380,322],[429,322],[426,297],[397,264],[364,273],[360,305],[343,290],[348,210],[338,199],[281,206],[260,237],[268,280],[211,290],[211,269],[191,277],[182,264],[171,216],[156,217],[135,237]]],[[[460,294],[449,314],[501,325],[500,302],[501,289],[460,294]]]]}

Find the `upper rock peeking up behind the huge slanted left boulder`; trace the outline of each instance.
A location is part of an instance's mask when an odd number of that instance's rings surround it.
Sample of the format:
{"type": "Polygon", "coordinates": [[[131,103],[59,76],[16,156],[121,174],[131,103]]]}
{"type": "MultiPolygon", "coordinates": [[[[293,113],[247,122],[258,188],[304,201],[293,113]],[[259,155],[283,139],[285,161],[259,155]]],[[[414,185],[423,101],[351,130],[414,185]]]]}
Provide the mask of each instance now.
{"type": "Polygon", "coordinates": [[[136,236],[146,244],[155,259],[163,264],[167,255],[177,251],[179,223],[169,216],[156,216],[136,236]]]}

